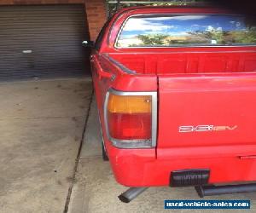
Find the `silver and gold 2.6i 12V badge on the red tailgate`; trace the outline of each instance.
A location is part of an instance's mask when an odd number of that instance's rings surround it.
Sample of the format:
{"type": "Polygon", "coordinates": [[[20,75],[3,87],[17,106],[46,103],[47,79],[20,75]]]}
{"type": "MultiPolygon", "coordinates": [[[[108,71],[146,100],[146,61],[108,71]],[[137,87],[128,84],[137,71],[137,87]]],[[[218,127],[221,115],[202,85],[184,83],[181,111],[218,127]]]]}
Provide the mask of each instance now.
{"type": "Polygon", "coordinates": [[[214,125],[198,125],[198,126],[180,126],[179,132],[207,132],[207,131],[230,131],[236,130],[235,126],[214,126],[214,125]]]}

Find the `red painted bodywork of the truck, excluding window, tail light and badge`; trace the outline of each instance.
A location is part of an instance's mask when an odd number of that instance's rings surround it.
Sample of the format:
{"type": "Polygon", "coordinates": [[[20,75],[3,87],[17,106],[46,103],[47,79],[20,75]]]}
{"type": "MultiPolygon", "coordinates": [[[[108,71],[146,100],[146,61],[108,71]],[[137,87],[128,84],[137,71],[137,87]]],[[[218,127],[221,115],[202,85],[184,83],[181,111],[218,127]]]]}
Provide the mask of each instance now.
{"type": "MultiPolygon", "coordinates": [[[[211,183],[256,181],[256,158],[252,157],[256,155],[256,48],[113,47],[119,27],[131,15],[166,13],[230,11],[149,7],[124,9],[113,16],[91,65],[103,138],[116,180],[131,187],[168,186],[172,170],[209,169],[211,183]],[[137,74],[123,72],[106,55],[137,74]],[[113,147],[103,116],[109,88],[158,92],[156,148],[113,147]],[[190,125],[213,125],[218,131],[179,132],[180,126],[190,125]],[[223,126],[237,128],[222,130],[223,126]]],[[[116,128],[113,121],[111,128],[116,128]]]]}

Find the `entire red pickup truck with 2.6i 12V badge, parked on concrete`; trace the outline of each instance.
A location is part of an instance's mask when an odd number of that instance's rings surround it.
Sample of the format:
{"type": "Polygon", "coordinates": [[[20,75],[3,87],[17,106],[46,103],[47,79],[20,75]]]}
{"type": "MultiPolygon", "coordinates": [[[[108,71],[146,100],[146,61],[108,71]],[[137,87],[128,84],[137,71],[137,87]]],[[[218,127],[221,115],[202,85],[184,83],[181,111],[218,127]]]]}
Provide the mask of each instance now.
{"type": "Polygon", "coordinates": [[[256,191],[253,17],[121,9],[102,28],[91,66],[103,153],[131,187],[119,199],[158,186],[195,186],[201,197],[256,191]]]}

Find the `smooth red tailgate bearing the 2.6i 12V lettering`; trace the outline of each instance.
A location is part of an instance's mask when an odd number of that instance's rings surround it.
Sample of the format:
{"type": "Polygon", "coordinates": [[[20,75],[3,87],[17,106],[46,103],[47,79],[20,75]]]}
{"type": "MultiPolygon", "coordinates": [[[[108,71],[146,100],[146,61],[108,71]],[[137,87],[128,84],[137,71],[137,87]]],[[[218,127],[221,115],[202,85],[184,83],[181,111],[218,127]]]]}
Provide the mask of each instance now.
{"type": "Polygon", "coordinates": [[[256,156],[256,73],[159,76],[158,158],[256,156]]]}

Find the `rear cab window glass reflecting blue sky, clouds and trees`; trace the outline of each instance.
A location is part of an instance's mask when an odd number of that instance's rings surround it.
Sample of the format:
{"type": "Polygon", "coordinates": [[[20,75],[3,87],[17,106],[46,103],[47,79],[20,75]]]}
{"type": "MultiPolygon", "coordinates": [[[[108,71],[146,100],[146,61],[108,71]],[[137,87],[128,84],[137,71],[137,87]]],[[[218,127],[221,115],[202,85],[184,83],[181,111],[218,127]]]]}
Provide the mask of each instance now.
{"type": "Polygon", "coordinates": [[[118,47],[256,44],[254,19],[241,15],[137,16],[126,21],[118,47]]]}

